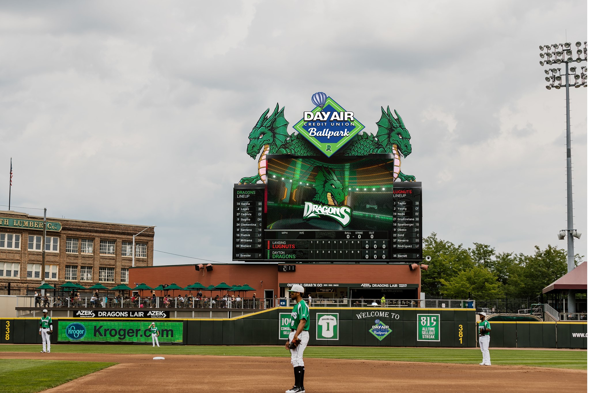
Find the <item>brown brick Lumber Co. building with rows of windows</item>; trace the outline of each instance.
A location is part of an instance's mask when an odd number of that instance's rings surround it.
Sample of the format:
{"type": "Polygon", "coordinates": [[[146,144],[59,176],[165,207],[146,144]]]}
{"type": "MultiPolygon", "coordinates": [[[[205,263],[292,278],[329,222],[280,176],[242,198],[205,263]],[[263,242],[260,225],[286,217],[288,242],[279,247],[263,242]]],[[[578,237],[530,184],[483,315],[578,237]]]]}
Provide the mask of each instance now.
{"type": "MultiPolygon", "coordinates": [[[[0,294],[26,295],[41,284],[43,217],[0,211],[0,294]]],[[[129,282],[133,235],[146,226],[47,218],[45,282],[85,287],[129,282]]],[[[153,265],[154,229],[135,238],[135,266],[153,265]]]]}

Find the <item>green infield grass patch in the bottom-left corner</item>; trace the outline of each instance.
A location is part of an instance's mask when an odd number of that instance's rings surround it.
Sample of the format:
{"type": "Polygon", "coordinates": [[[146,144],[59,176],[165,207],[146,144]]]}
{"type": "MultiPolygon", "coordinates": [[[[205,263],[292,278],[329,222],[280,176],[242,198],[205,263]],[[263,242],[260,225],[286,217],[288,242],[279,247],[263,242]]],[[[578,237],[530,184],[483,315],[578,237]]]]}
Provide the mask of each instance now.
{"type": "Polygon", "coordinates": [[[39,392],[116,363],[0,359],[0,392],[39,392]]]}

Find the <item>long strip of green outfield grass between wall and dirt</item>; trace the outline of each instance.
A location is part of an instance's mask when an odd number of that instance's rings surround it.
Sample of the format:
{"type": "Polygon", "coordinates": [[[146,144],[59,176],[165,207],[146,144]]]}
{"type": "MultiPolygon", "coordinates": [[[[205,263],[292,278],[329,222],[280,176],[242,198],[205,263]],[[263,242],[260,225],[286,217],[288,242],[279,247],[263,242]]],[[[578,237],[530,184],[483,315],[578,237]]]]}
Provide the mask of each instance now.
{"type": "MultiPolygon", "coordinates": [[[[37,352],[39,345],[0,345],[1,352],[37,352]]],[[[165,345],[153,348],[149,345],[53,345],[51,353],[76,354],[150,354],[150,355],[226,355],[226,356],[278,356],[289,357],[281,346],[202,346],[165,345]]],[[[490,349],[492,364],[555,368],[587,368],[587,351],[490,349]]],[[[398,362],[436,362],[478,364],[481,351],[478,348],[376,348],[362,346],[310,346],[305,350],[307,358],[365,359],[398,362]]]]}

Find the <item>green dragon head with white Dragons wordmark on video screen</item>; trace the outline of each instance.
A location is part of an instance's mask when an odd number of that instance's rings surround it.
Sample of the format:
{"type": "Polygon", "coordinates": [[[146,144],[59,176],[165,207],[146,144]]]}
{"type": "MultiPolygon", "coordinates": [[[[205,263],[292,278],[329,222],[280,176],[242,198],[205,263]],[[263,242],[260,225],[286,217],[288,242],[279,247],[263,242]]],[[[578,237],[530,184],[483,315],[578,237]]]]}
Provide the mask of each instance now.
{"type": "Polygon", "coordinates": [[[335,219],[342,226],[347,226],[350,223],[352,209],[349,206],[339,206],[344,202],[345,193],[335,171],[326,167],[317,167],[313,187],[316,189],[316,195],[313,197],[313,202],[304,204],[303,219],[325,216],[335,219]]]}

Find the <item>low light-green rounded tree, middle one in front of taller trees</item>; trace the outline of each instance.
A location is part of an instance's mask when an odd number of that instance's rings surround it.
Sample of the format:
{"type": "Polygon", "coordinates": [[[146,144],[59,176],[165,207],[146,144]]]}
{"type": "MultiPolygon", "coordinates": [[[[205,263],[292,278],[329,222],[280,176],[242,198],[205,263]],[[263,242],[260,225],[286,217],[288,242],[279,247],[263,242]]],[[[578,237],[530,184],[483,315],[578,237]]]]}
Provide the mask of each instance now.
{"type": "Polygon", "coordinates": [[[486,297],[497,297],[504,294],[503,285],[485,267],[475,266],[459,273],[457,276],[441,280],[441,293],[452,299],[467,299],[470,292],[486,297]]]}

